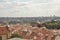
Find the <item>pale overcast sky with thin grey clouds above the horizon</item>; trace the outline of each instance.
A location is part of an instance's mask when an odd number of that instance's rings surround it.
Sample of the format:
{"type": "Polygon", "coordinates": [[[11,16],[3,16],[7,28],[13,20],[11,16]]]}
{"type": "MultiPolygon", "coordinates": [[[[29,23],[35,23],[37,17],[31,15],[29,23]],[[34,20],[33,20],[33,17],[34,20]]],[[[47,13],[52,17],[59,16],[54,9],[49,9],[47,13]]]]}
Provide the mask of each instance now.
{"type": "Polygon", "coordinates": [[[0,17],[60,16],[60,0],[0,0],[0,17]]]}

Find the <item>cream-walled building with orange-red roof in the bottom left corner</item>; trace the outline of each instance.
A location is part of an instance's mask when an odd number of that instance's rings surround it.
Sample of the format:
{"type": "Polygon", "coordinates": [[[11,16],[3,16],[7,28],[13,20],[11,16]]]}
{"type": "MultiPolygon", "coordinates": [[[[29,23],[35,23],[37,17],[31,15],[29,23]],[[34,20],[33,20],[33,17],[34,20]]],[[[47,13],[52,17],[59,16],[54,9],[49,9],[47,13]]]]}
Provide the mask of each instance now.
{"type": "Polygon", "coordinates": [[[8,40],[9,29],[7,27],[0,27],[0,40],[8,40]]]}

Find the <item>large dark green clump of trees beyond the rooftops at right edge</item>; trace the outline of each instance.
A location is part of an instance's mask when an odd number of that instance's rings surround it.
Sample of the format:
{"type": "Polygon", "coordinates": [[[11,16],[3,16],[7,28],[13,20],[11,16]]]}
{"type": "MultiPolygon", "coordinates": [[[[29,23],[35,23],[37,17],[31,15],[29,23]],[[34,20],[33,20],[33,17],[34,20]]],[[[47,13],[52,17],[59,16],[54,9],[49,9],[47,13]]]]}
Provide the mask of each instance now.
{"type": "Polygon", "coordinates": [[[46,22],[43,25],[48,29],[60,29],[60,21],[46,22]]]}

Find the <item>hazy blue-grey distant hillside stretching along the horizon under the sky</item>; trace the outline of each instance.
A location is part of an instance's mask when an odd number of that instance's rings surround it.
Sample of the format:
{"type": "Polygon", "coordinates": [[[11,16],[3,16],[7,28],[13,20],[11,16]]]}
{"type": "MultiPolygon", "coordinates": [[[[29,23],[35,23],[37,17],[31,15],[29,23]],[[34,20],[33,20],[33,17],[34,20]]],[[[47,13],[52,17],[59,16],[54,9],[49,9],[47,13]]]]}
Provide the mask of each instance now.
{"type": "Polygon", "coordinates": [[[60,17],[0,17],[1,22],[35,22],[35,21],[60,21],[60,17]]]}

